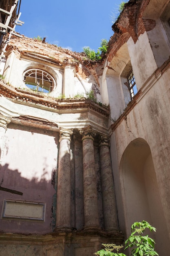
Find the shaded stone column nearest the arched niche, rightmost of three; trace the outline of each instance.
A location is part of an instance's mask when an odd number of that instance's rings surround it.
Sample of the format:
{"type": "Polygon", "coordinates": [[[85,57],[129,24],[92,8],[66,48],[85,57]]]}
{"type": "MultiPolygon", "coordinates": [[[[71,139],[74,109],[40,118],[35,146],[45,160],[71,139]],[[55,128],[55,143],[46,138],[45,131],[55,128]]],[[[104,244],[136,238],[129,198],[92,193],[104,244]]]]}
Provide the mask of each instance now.
{"type": "Polygon", "coordinates": [[[104,228],[106,231],[118,229],[117,206],[110,159],[109,139],[109,137],[101,136],[101,142],[99,144],[104,228]]]}

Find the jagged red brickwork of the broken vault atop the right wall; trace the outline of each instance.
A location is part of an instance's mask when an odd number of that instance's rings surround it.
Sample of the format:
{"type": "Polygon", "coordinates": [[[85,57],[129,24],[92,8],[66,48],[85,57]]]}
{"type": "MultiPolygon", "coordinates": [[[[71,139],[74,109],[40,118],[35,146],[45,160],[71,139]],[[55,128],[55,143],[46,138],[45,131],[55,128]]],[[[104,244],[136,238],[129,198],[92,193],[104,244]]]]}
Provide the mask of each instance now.
{"type": "Polygon", "coordinates": [[[108,43],[108,61],[111,61],[119,48],[132,37],[136,43],[140,34],[155,27],[155,20],[143,19],[143,13],[150,0],[130,0],[125,4],[120,17],[113,24],[112,29],[115,34],[108,43]]]}

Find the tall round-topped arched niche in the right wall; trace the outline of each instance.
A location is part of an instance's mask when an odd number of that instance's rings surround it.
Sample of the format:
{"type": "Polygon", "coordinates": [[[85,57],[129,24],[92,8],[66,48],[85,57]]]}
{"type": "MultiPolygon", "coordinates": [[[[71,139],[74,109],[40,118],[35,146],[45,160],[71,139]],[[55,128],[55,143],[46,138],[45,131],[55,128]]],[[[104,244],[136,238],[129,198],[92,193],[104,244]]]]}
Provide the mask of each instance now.
{"type": "Polygon", "coordinates": [[[170,251],[168,230],[152,154],[144,139],[131,141],[125,149],[120,162],[120,179],[127,237],[133,222],[146,220],[157,229],[150,234],[156,241],[156,251],[166,256],[170,251]]]}

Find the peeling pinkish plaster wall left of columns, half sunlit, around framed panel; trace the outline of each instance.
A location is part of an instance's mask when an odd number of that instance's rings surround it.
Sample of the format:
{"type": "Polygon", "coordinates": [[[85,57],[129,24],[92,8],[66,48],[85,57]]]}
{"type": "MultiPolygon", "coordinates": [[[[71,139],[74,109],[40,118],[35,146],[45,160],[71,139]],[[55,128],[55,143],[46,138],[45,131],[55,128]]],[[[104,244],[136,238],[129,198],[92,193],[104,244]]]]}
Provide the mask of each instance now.
{"type": "Polygon", "coordinates": [[[4,232],[44,234],[55,225],[54,177],[57,169],[58,133],[10,124],[4,137],[4,154],[1,157],[0,180],[7,189],[23,195],[2,191],[3,200],[45,203],[45,221],[1,219],[4,232]],[[36,223],[36,224],[35,224],[36,223]]]}

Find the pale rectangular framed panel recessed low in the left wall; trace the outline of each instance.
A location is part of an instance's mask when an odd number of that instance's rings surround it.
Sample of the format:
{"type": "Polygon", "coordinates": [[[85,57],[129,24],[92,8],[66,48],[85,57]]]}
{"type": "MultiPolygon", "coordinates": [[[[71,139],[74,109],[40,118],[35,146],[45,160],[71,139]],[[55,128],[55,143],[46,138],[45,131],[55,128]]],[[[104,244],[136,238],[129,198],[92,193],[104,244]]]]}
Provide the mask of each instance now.
{"type": "Polygon", "coordinates": [[[37,202],[4,200],[1,218],[44,221],[45,204],[37,202]]]}

